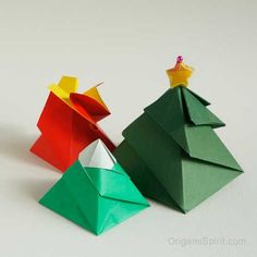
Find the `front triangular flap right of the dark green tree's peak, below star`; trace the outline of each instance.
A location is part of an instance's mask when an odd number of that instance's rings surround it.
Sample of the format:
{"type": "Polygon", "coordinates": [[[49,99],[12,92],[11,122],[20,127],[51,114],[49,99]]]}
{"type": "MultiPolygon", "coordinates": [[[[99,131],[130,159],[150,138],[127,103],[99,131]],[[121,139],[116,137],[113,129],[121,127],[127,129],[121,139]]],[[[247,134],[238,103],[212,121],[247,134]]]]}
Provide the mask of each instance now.
{"type": "Polygon", "coordinates": [[[184,98],[189,120],[195,125],[211,125],[212,127],[225,125],[221,120],[219,120],[219,118],[203,106],[203,103],[187,88],[182,88],[182,96],[184,98]]]}

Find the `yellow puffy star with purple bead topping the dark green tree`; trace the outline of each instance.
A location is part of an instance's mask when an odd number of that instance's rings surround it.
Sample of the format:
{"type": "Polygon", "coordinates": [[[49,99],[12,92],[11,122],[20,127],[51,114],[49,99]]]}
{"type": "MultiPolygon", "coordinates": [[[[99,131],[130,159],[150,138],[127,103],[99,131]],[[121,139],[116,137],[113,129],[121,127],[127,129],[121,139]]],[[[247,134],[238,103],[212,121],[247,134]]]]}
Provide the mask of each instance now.
{"type": "Polygon", "coordinates": [[[193,68],[183,63],[183,57],[179,56],[176,58],[175,66],[167,70],[167,74],[170,78],[170,86],[187,86],[187,79],[191,77],[193,68]]]}

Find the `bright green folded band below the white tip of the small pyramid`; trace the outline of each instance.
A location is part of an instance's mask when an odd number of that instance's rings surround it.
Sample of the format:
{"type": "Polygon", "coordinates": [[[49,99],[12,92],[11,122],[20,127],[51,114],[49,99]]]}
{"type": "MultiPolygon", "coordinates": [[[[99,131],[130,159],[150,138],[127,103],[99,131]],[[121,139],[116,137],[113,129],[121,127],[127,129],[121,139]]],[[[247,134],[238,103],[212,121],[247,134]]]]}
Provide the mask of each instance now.
{"type": "Polygon", "coordinates": [[[102,197],[149,206],[127,175],[107,169],[85,168],[102,197]]]}

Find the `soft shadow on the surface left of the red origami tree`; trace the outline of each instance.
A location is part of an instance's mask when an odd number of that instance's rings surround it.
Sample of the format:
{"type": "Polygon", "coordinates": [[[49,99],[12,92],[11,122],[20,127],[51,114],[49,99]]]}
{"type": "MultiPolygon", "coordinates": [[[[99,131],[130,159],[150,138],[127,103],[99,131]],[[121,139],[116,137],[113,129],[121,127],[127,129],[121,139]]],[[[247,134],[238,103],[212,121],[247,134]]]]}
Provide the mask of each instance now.
{"type": "Polygon", "coordinates": [[[52,166],[34,156],[29,149],[38,136],[29,135],[24,128],[14,124],[0,124],[0,155],[13,158],[48,170],[52,166]]]}

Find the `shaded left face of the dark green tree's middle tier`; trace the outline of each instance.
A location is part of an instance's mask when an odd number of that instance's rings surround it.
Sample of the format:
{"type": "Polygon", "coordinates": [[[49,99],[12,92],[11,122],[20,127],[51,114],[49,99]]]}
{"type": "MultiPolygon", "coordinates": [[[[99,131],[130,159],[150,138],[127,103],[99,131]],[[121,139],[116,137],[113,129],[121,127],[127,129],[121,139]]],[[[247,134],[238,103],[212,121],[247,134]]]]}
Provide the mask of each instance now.
{"type": "Polygon", "coordinates": [[[124,137],[174,201],[183,206],[180,146],[145,113],[124,131],[124,137]]]}

